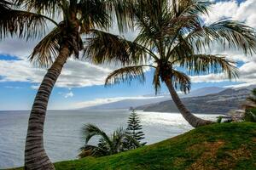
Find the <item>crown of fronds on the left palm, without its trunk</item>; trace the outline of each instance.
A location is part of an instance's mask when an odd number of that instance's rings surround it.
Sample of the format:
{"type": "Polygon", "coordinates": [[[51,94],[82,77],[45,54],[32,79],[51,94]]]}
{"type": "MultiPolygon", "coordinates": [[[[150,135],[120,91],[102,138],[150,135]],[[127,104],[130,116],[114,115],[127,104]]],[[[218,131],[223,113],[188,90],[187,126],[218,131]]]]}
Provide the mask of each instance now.
{"type": "Polygon", "coordinates": [[[37,65],[49,66],[66,43],[70,53],[79,58],[84,49],[82,37],[92,29],[108,29],[113,14],[120,31],[131,23],[125,1],[117,0],[15,0],[0,1],[0,37],[41,38],[30,59],[37,65]],[[4,10],[2,10],[2,8],[4,10]],[[50,31],[47,28],[52,27],[50,31]]]}

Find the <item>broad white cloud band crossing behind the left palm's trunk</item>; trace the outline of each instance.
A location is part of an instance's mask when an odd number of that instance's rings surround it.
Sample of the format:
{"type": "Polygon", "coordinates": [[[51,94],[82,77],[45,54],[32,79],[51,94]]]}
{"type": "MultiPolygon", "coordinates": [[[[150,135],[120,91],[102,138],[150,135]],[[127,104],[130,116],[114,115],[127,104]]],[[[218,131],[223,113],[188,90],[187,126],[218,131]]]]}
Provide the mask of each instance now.
{"type": "MultiPolygon", "coordinates": [[[[56,82],[61,88],[80,88],[102,85],[111,70],[88,62],[69,59],[56,82]]],[[[0,82],[40,83],[45,74],[44,69],[32,67],[25,60],[0,60],[0,82]]],[[[32,88],[38,88],[33,85],[32,88]]]]}

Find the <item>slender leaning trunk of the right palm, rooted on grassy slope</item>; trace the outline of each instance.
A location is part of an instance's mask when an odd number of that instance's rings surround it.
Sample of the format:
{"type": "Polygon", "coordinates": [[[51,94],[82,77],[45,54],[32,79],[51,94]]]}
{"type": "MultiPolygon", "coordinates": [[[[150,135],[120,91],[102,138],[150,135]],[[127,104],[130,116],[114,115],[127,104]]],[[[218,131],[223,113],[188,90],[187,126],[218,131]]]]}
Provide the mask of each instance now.
{"type": "Polygon", "coordinates": [[[166,78],[164,80],[164,82],[166,83],[166,86],[172,96],[172,100],[173,102],[177,105],[177,109],[178,111],[181,112],[181,114],[183,115],[183,117],[186,119],[187,122],[189,122],[189,124],[192,127],[201,127],[204,125],[208,125],[208,124],[212,124],[213,122],[211,121],[207,121],[207,120],[203,120],[195,115],[193,115],[186,107],[185,105],[183,105],[183,102],[181,101],[181,99],[179,99],[175,88],[173,88],[172,85],[172,80],[171,78],[166,78]]]}

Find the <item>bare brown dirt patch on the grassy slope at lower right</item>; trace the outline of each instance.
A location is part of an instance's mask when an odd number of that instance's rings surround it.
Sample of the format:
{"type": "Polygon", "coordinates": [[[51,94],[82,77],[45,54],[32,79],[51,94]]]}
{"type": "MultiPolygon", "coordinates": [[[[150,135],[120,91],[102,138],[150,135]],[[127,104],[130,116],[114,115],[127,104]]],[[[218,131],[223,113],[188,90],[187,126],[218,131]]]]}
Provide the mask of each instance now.
{"type": "Polygon", "coordinates": [[[204,152],[188,169],[189,170],[215,170],[217,167],[213,167],[207,163],[208,161],[216,160],[216,154],[220,147],[224,145],[224,141],[217,142],[204,142],[203,144],[195,144],[189,147],[189,150],[201,150],[204,149],[204,152]]]}

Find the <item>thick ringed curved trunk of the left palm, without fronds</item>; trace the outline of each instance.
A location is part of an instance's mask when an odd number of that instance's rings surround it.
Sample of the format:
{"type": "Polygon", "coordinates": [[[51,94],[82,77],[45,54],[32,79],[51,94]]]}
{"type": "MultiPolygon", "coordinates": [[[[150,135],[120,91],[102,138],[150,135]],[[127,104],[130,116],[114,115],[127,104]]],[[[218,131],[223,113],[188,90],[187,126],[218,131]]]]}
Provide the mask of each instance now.
{"type": "Polygon", "coordinates": [[[26,170],[53,170],[54,165],[49,161],[44,150],[44,120],[49,100],[49,95],[54,88],[57,78],[61,74],[63,65],[66,63],[70,51],[67,46],[61,48],[59,56],[38,88],[38,94],[32,105],[32,111],[28,121],[26,146],[25,146],[25,169],[26,170]]]}

